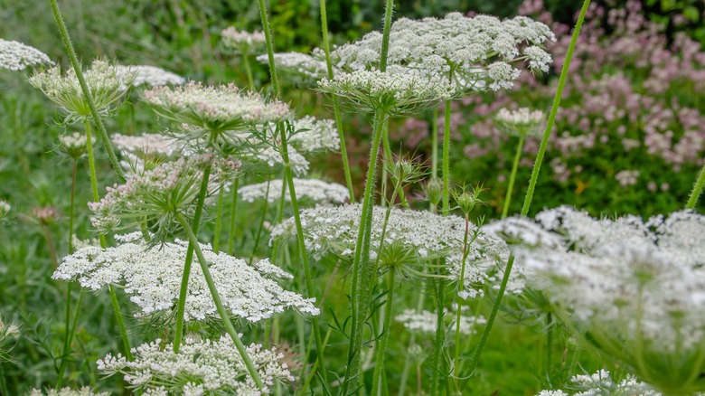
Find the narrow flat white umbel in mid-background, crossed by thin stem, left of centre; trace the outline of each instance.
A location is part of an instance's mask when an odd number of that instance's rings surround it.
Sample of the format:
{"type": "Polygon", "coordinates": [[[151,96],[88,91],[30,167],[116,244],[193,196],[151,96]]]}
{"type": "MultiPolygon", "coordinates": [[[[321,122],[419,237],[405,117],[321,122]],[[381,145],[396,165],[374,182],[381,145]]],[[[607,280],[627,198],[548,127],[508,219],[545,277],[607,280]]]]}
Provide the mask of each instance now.
{"type": "MultiPolygon", "coordinates": [[[[325,183],[318,179],[298,179],[294,178],[296,188],[296,199],[308,199],[319,203],[345,203],[350,194],[347,187],[337,183],[325,183]]],[[[257,199],[265,198],[273,203],[281,196],[282,180],[272,180],[270,182],[250,184],[240,187],[238,193],[242,201],[252,203],[257,199]],[[269,184],[269,187],[267,186],[269,184]],[[267,189],[269,188],[269,193],[267,189]]],[[[291,201],[289,194],[285,194],[287,202],[291,201]]]]}

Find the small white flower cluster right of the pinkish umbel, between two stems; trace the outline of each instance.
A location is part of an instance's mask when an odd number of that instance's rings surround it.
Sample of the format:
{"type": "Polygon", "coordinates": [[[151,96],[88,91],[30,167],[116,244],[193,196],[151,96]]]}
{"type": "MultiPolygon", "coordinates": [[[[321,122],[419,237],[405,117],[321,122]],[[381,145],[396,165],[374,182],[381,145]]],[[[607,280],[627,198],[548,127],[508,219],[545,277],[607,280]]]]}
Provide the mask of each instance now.
{"type": "Polygon", "coordinates": [[[312,116],[296,119],[292,122],[294,134],[290,142],[304,153],[322,150],[339,150],[340,137],[333,119],[318,119],[312,116]]]}

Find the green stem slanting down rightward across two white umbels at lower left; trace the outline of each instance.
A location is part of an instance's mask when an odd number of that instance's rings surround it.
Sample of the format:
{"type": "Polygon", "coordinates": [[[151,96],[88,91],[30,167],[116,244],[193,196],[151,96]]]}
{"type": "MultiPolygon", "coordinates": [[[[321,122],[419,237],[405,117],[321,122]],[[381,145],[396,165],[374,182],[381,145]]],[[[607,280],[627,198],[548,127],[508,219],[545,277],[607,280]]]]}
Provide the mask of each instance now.
{"type": "Polygon", "coordinates": [[[201,250],[201,246],[198,244],[198,239],[196,239],[196,234],[193,233],[191,227],[189,226],[189,223],[186,222],[186,219],[183,217],[182,213],[176,213],[176,221],[181,223],[183,229],[186,231],[186,234],[189,237],[189,242],[193,246],[193,250],[196,252],[198,262],[201,264],[203,278],[205,278],[206,284],[208,284],[208,289],[211,291],[213,303],[215,303],[215,307],[218,310],[218,314],[221,316],[222,323],[223,325],[225,325],[225,330],[228,332],[233,344],[235,344],[235,347],[238,349],[238,353],[240,353],[242,362],[245,363],[245,366],[248,369],[249,376],[252,377],[252,380],[255,382],[255,384],[257,384],[258,389],[261,390],[262,388],[264,388],[264,383],[259,378],[257,368],[255,367],[254,363],[252,363],[252,359],[249,358],[249,354],[245,349],[245,345],[242,344],[242,340],[240,340],[238,332],[235,331],[235,327],[232,325],[232,322],[230,322],[230,316],[228,316],[228,312],[225,310],[225,306],[222,305],[221,296],[218,294],[218,290],[215,288],[215,283],[213,282],[213,278],[211,277],[211,269],[209,269],[208,262],[206,261],[205,257],[203,257],[203,252],[201,250]]]}

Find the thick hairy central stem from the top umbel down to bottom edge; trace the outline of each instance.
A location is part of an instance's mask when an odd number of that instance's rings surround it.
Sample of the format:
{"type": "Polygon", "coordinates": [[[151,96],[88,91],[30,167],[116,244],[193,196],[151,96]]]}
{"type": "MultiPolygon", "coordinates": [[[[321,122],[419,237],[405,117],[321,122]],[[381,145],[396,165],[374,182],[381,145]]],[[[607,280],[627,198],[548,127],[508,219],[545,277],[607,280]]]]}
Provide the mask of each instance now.
{"type": "Polygon", "coordinates": [[[367,181],[365,183],[364,195],[362,198],[362,215],[360,219],[360,229],[355,242],[355,254],[353,256],[353,278],[351,281],[351,334],[348,344],[348,377],[343,383],[343,394],[347,394],[349,387],[357,388],[359,376],[361,375],[361,352],[362,352],[362,332],[364,322],[367,317],[367,306],[369,302],[361,301],[366,295],[367,285],[364,279],[371,267],[370,263],[370,238],[372,208],[374,206],[374,184],[377,173],[377,157],[380,153],[381,129],[384,124],[384,115],[381,112],[375,113],[372,123],[372,146],[370,149],[370,165],[367,169],[367,181]]]}

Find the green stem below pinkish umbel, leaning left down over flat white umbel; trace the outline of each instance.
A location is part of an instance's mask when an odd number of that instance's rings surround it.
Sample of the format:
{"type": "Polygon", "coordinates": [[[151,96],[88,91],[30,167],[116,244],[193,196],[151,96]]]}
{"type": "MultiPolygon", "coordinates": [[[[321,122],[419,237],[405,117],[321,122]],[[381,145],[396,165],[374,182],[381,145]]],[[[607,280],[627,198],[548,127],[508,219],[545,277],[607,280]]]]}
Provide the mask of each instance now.
{"type": "MultiPolygon", "coordinates": [[[[199,226],[201,225],[201,216],[203,212],[203,204],[205,203],[205,196],[208,193],[208,179],[211,177],[211,164],[206,165],[203,169],[203,178],[201,180],[201,186],[198,192],[198,197],[196,198],[196,209],[193,212],[193,224],[188,228],[188,231],[193,232],[195,235],[198,233],[199,226]]],[[[179,290],[179,301],[176,306],[176,331],[174,333],[174,354],[179,353],[179,348],[183,340],[183,316],[186,311],[186,296],[188,295],[189,289],[189,278],[191,276],[191,265],[193,263],[193,250],[195,246],[193,242],[189,242],[189,247],[186,249],[186,259],[183,262],[183,273],[181,277],[181,288],[179,290]]]]}

